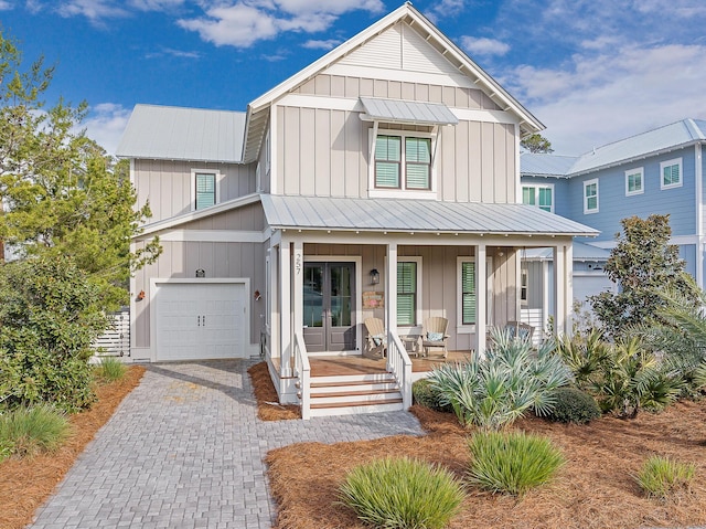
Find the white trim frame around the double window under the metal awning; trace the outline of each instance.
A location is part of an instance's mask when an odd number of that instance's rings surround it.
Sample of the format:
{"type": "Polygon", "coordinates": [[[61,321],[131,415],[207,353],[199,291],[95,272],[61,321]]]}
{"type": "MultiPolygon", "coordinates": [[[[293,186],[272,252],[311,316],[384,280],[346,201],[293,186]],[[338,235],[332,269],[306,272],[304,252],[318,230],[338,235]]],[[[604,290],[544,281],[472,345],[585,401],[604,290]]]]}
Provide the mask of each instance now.
{"type": "Polygon", "coordinates": [[[368,141],[371,145],[371,160],[367,166],[367,194],[371,199],[436,199],[437,198],[437,170],[436,152],[439,148],[440,136],[436,133],[415,130],[391,130],[373,127],[370,129],[368,141]],[[375,187],[375,140],[377,136],[399,136],[402,138],[400,184],[402,189],[379,189],[375,187]],[[405,189],[405,138],[429,138],[431,140],[431,163],[429,174],[429,190],[405,189]]]}

